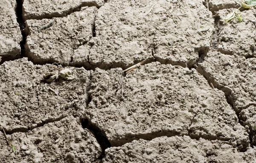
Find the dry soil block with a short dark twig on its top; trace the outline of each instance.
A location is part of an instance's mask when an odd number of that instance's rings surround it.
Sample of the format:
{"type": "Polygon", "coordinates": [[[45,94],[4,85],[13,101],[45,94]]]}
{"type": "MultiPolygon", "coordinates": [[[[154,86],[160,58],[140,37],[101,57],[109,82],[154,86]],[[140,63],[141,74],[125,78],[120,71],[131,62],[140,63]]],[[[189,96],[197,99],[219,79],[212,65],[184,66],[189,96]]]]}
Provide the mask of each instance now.
{"type": "Polygon", "coordinates": [[[28,57],[39,64],[58,62],[72,65],[73,62],[83,62],[88,65],[90,46],[86,43],[93,36],[96,11],[96,7],[89,7],[67,17],[27,20],[29,36],[25,48],[28,57]]]}

